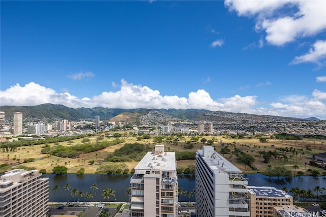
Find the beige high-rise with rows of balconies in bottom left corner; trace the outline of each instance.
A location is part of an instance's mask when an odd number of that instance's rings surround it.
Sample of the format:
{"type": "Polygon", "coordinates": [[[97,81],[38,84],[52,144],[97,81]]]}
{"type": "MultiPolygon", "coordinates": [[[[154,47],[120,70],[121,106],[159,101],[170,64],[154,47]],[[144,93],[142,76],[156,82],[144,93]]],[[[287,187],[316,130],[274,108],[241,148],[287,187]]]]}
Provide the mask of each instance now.
{"type": "Polygon", "coordinates": [[[46,217],[48,183],[37,170],[6,172],[0,177],[0,216],[46,217]]]}

